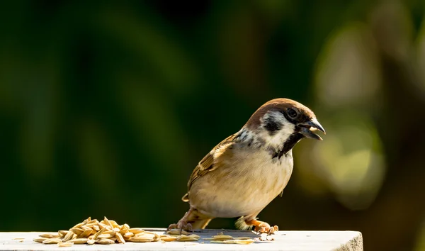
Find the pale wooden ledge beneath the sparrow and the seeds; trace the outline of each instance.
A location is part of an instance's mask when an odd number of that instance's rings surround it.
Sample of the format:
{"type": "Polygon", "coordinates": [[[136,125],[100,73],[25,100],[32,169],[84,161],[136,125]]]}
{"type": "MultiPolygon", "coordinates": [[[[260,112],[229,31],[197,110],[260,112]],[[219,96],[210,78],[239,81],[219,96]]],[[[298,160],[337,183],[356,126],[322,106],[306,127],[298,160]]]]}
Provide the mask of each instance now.
{"type": "MultiPolygon", "coordinates": [[[[159,234],[164,233],[162,228],[146,228],[159,234]]],[[[72,247],[57,247],[33,242],[34,238],[42,234],[30,233],[0,233],[0,250],[363,250],[363,238],[360,232],[353,231],[279,231],[272,235],[275,240],[268,242],[254,242],[249,245],[210,243],[202,238],[211,238],[212,235],[223,232],[233,237],[258,237],[251,231],[242,230],[198,230],[198,242],[146,242],[113,245],[74,245],[72,247]],[[23,240],[13,240],[24,238],[23,240]]]]}

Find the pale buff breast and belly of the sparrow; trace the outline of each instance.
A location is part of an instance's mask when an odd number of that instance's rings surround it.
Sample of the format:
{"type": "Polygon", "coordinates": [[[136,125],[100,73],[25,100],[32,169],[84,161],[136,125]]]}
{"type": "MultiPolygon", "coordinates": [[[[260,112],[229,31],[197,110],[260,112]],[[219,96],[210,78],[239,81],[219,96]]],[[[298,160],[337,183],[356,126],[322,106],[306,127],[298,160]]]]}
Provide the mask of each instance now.
{"type": "Polygon", "coordinates": [[[189,192],[191,206],[214,218],[259,213],[288,184],[292,155],[272,160],[271,155],[251,156],[200,177],[189,192]]]}

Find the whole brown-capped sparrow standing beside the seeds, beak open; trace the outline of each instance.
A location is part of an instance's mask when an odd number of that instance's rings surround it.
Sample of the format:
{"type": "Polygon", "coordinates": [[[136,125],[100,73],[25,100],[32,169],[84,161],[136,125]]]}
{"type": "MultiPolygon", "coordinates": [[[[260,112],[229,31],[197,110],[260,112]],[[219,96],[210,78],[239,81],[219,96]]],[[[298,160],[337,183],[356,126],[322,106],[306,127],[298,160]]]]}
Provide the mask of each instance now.
{"type": "Polygon", "coordinates": [[[168,229],[203,229],[213,218],[237,218],[236,227],[271,234],[278,226],[256,216],[282,196],[293,172],[292,149],[302,138],[322,140],[325,130],[306,106],[291,99],[273,99],[258,108],[246,124],[222,140],[193,169],[189,210],[168,229]]]}

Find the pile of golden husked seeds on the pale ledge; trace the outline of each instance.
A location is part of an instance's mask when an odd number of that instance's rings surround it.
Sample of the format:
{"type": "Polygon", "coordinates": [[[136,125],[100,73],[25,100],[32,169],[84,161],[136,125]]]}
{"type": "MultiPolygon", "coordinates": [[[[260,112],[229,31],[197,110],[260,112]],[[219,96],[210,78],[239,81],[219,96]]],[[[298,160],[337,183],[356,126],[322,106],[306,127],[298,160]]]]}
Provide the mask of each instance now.
{"type": "Polygon", "coordinates": [[[82,223],[74,225],[69,230],[59,230],[57,233],[45,233],[35,242],[57,244],[58,247],[70,247],[74,244],[114,244],[125,242],[155,242],[155,241],[197,241],[198,235],[158,235],[142,228],[130,228],[128,224],[118,225],[115,221],[104,218],[103,221],[90,217],[82,223]]]}

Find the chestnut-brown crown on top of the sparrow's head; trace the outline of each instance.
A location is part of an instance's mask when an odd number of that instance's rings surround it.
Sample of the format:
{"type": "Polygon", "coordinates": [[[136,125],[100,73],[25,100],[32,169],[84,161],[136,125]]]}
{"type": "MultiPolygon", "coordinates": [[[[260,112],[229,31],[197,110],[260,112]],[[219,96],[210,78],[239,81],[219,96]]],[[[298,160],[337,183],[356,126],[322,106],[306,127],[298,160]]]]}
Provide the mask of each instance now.
{"type": "Polygon", "coordinates": [[[268,112],[272,110],[286,111],[288,108],[297,108],[298,111],[302,114],[304,119],[315,118],[314,113],[303,104],[298,103],[292,99],[272,99],[271,101],[266,102],[260,108],[258,108],[248,122],[246,122],[246,128],[254,130],[261,125],[261,118],[268,112]]]}

